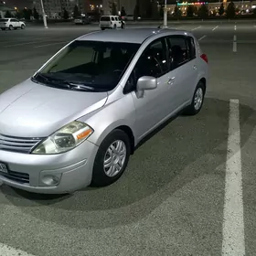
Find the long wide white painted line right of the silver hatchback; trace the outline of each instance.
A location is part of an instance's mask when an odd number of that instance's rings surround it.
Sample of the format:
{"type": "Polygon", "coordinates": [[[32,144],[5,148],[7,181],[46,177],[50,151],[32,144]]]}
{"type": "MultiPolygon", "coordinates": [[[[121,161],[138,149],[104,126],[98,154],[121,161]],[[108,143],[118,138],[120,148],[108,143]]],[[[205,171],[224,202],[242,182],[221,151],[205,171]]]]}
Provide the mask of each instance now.
{"type": "Polygon", "coordinates": [[[229,101],[229,138],[225,178],[222,255],[245,255],[240,155],[240,101],[229,101]]]}

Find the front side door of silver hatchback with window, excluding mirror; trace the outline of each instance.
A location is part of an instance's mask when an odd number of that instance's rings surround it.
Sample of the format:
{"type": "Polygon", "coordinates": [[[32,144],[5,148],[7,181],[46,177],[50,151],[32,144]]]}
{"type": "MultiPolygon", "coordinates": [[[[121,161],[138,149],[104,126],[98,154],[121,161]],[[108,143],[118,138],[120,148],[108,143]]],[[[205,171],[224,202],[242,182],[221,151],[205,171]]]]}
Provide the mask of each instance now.
{"type": "Polygon", "coordinates": [[[157,88],[144,91],[142,98],[136,91],[132,92],[136,109],[136,137],[140,140],[154,130],[171,112],[169,96],[171,86],[168,84],[170,73],[166,59],[165,38],[156,39],[147,48],[138,60],[134,70],[134,84],[143,76],[157,78],[157,88]]]}

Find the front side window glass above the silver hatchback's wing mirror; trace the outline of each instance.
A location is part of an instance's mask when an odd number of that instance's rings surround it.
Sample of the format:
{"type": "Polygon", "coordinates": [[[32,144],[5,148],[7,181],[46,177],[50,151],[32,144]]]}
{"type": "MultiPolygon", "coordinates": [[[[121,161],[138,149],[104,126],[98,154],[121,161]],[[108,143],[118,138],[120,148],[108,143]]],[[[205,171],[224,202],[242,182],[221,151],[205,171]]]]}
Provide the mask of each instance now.
{"type": "Polygon", "coordinates": [[[144,53],[135,66],[134,73],[136,80],[138,80],[143,76],[159,78],[167,70],[165,41],[163,39],[157,39],[145,48],[144,53]]]}

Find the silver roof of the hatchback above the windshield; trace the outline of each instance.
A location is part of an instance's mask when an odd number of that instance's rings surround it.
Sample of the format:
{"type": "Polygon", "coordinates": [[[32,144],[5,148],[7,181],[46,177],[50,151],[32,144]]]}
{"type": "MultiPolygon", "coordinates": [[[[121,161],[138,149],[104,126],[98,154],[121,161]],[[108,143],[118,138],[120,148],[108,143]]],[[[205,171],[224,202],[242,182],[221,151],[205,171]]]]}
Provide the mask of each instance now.
{"type": "Polygon", "coordinates": [[[79,40],[85,41],[105,41],[105,42],[126,42],[134,44],[142,44],[148,37],[153,37],[159,34],[168,33],[169,35],[184,35],[190,34],[187,31],[176,29],[161,29],[161,28],[130,28],[122,30],[103,30],[91,32],[81,36],[79,40]]]}

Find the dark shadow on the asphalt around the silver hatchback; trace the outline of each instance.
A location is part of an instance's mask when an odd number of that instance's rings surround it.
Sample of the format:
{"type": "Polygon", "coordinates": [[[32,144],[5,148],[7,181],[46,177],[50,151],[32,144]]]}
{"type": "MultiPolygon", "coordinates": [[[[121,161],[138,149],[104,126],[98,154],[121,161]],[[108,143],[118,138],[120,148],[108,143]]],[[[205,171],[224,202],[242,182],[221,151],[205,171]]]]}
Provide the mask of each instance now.
{"type": "MultiPolygon", "coordinates": [[[[255,127],[256,123],[246,125],[252,115],[251,108],[240,106],[241,129],[247,127],[242,144],[255,127]]],[[[228,123],[229,102],[207,98],[197,116],[179,116],[148,136],[123,176],[111,186],[88,187],[62,196],[3,186],[5,200],[1,204],[12,204],[34,218],[72,228],[103,229],[136,222],[200,176],[224,179],[225,171],[219,170],[219,165],[226,162],[228,123]]]]}

